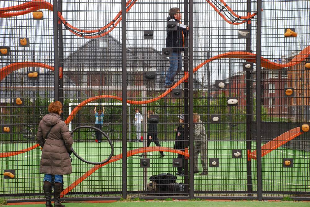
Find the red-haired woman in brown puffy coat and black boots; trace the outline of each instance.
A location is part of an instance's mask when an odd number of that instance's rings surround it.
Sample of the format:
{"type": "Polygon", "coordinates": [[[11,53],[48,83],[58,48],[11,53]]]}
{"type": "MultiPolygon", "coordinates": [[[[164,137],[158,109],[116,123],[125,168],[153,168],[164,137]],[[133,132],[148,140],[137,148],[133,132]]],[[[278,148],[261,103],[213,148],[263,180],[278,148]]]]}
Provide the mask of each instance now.
{"type": "Polygon", "coordinates": [[[63,207],[60,203],[63,175],[72,173],[71,146],[72,136],[67,125],[61,119],[63,112],[60,101],[52,102],[48,106],[49,114],[45,115],[39,123],[37,142],[42,149],[40,173],[45,173],[43,191],[46,198],[46,207],[51,204],[51,180],[54,175],[54,202],[55,207],[63,207]]]}

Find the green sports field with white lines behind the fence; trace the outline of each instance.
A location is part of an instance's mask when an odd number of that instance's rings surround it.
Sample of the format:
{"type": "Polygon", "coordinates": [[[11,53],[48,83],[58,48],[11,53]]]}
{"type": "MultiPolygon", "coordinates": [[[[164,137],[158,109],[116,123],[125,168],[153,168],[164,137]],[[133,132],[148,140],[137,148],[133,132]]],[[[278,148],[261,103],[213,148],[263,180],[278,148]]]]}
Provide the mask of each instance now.
{"type": "MultiPolygon", "coordinates": [[[[15,151],[15,149],[24,149],[35,143],[6,143],[0,144],[1,152],[15,151]]],[[[173,147],[174,142],[161,141],[165,147],[173,147]]],[[[122,153],[122,143],[114,142],[114,155],[122,153]]],[[[151,146],[154,146],[153,143],[151,146]]],[[[78,154],[91,155],[88,160],[98,162],[105,159],[110,153],[107,142],[75,142],[73,147],[78,154]],[[101,154],[99,153],[101,150],[101,154]]],[[[142,143],[127,143],[127,150],[142,147],[142,143]]],[[[255,142],[252,142],[252,148],[255,149],[255,142]]],[[[22,153],[12,157],[1,158],[0,168],[4,170],[14,169],[14,179],[0,178],[0,194],[10,194],[9,199],[16,198],[40,198],[35,193],[42,193],[43,174],[39,173],[39,161],[41,151],[36,148],[29,152],[22,153]],[[33,196],[22,196],[24,193],[33,193],[33,196]]],[[[127,160],[127,188],[128,191],[143,191],[144,183],[148,183],[149,176],[159,173],[176,173],[176,168],[172,167],[172,158],[176,154],[166,153],[166,156],[159,158],[159,152],[147,153],[150,158],[150,167],[141,168],[140,158],[137,155],[128,157],[127,160]],[[144,175],[147,171],[147,176],[144,175]],[[143,181],[144,179],[144,181],[143,181]]],[[[86,157],[86,156],[85,156],[86,157]]],[[[247,190],[247,167],[246,167],[246,142],[245,141],[209,141],[208,159],[219,158],[219,167],[209,167],[208,176],[195,174],[195,191],[235,191],[234,196],[246,196],[247,190]],[[241,158],[232,158],[232,149],[241,149],[241,158]]],[[[64,176],[64,188],[69,186],[75,180],[80,178],[86,171],[94,165],[86,164],[73,156],[73,173],[64,176]]],[[[200,172],[202,171],[199,159],[200,172]]],[[[288,149],[284,147],[273,150],[262,158],[262,185],[263,191],[282,191],[289,192],[309,192],[310,191],[310,153],[288,149]],[[282,166],[283,158],[293,158],[293,167],[286,168],[282,166]]],[[[257,188],[256,182],[256,160],[252,160],[252,189],[257,188]]],[[[178,177],[177,182],[184,183],[184,177],[178,177]]],[[[87,177],[82,183],[76,186],[71,192],[78,194],[82,192],[83,197],[88,196],[121,196],[122,190],[122,160],[110,163],[101,167],[87,177]],[[112,194],[97,193],[109,192],[112,194]]],[[[133,196],[143,196],[143,193],[135,192],[133,196]]],[[[211,193],[199,195],[221,196],[227,193],[211,193]]],[[[294,195],[294,194],[293,194],[294,195]]],[[[67,195],[66,197],[78,197],[76,195],[67,195]]]]}

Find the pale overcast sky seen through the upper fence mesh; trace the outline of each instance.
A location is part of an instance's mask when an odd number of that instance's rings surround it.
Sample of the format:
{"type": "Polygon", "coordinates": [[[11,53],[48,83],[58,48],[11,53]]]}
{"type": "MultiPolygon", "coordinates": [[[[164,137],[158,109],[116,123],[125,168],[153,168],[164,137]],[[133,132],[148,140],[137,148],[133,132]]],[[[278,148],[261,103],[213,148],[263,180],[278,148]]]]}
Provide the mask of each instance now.
{"type": "MultiPolygon", "coordinates": [[[[24,1],[0,1],[0,7],[14,6],[24,1]]],[[[48,2],[52,2],[48,0],[48,2]]],[[[227,1],[238,15],[246,15],[246,3],[240,0],[227,1]]],[[[222,4],[220,4],[222,6],[222,4]]],[[[171,7],[179,7],[184,11],[183,1],[180,0],[137,0],[135,5],[127,13],[127,47],[153,47],[161,51],[165,47],[166,18],[171,7]],[[153,30],[154,39],[144,40],[143,30],[153,30]]],[[[268,59],[278,59],[282,55],[299,52],[309,45],[309,21],[310,1],[263,1],[262,12],[262,55],[268,59]],[[297,38],[284,38],[285,28],[296,28],[297,38]]],[[[81,29],[99,29],[108,24],[120,11],[121,3],[115,0],[83,0],[72,2],[63,0],[63,16],[73,26],[81,29]],[[92,2],[92,3],[90,3],[92,2]],[[118,2],[118,3],[115,3],[118,2]]],[[[238,30],[245,29],[246,23],[232,25],[224,21],[219,14],[206,2],[206,0],[194,1],[194,64],[197,65],[207,59],[206,51],[210,56],[223,52],[215,51],[240,51],[246,50],[245,39],[238,39],[238,30]],[[201,51],[201,52],[198,52],[201,51]]],[[[252,3],[253,12],[256,11],[256,2],[252,3]]],[[[36,52],[36,61],[52,64],[53,62],[53,23],[52,12],[44,11],[44,20],[32,20],[32,14],[18,17],[0,18],[1,45],[10,46],[12,50],[24,51],[21,56],[15,57],[16,62],[22,62],[24,55],[36,52]],[[29,48],[20,48],[17,44],[18,37],[31,38],[29,48]],[[44,52],[47,51],[47,52],[44,52]]],[[[252,13],[253,13],[252,12],[252,13]]],[[[183,13],[184,19],[184,13],[183,13]]],[[[252,20],[252,50],[256,53],[256,17],[252,20]]],[[[118,41],[121,41],[120,23],[110,33],[118,41]]],[[[64,29],[64,51],[68,55],[77,50],[90,39],[77,37],[69,30],[64,29]]],[[[3,57],[3,56],[2,56],[3,57]]],[[[24,58],[27,59],[27,58],[24,58]]],[[[7,65],[7,59],[2,59],[1,65],[7,65]]],[[[242,61],[241,61],[242,62],[242,61]]],[[[227,60],[218,61],[211,68],[216,72],[215,79],[227,74],[227,60]],[[223,71],[223,75],[221,74],[223,71]],[[217,76],[217,77],[216,77],[217,76]]],[[[205,73],[205,67],[199,73],[205,73]]],[[[211,71],[211,72],[212,72],[211,71]]],[[[240,71],[240,63],[232,64],[233,73],[240,71]]],[[[197,73],[197,75],[199,75],[197,73]]],[[[199,75],[200,77],[200,75],[199,75]]],[[[198,77],[198,78],[199,78],[198,77]]]]}

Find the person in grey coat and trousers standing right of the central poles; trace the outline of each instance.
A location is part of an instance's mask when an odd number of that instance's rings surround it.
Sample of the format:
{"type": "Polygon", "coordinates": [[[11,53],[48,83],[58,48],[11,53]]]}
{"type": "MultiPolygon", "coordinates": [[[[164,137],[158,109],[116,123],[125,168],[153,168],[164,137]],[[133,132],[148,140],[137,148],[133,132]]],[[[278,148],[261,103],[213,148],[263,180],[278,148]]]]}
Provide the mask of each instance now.
{"type": "Polygon", "coordinates": [[[208,175],[208,136],[205,131],[205,125],[200,120],[200,116],[197,113],[194,113],[194,141],[194,173],[199,173],[198,155],[200,154],[202,173],[199,175],[208,175]]]}

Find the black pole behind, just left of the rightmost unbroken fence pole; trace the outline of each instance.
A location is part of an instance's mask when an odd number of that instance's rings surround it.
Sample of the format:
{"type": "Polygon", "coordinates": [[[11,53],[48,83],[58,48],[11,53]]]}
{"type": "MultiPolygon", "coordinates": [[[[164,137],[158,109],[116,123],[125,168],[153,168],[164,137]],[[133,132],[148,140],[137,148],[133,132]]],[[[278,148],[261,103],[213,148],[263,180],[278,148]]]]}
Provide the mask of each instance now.
{"type": "MultiPolygon", "coordinates": [[[[251,13],[251,0],[247,0],[247,13],[251,13]]],[[[246,24],[246,29],[251,29],[251,22],[246,24]]],[[[251,34],[251,33],[250,33],[251,34]]],[[[251,38],[246,39],[246,52],[251,52],[251,38]]],[[[251,71],[246,71],[246,150],[251,150],[251,71]]],[[[246,178],[248,196],[252,196],[252,165],[251,160],[246,161],[246,178]]]]}

